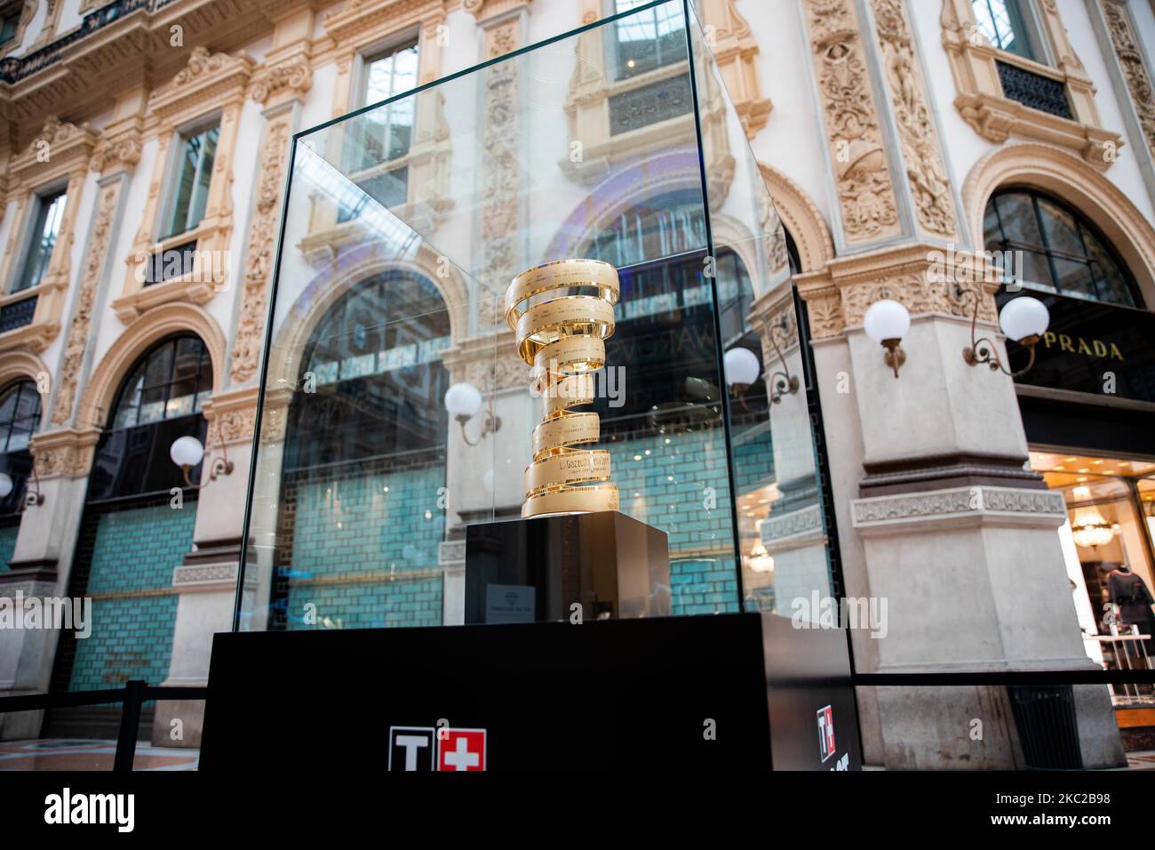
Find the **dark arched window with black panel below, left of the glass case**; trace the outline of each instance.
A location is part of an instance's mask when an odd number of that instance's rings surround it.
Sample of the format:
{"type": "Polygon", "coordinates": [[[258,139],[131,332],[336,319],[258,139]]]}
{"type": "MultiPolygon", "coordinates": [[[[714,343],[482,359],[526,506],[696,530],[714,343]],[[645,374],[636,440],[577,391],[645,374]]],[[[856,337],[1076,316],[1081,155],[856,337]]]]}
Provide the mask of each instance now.
{"type": "MultiPolygon", "coordinates": [[[[199,337],[157,342],[128,371],[96,446],[88,500],[99,501],[184,486],[169,457],[177,437],[204,442],[201,407],[213,393],[213,362],[199,337]]],[[[193,471],[192,479],[198,480],[193,471]]]]}

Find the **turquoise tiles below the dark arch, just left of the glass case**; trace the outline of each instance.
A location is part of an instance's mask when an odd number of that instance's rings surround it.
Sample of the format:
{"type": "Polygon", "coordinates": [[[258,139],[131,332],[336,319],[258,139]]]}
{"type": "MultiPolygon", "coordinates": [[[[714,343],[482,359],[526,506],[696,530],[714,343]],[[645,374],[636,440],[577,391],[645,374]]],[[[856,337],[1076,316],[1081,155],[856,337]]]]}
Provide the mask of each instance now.
{"type": "Polygon", "coordinates": [[[126,593],[92,600],[92,634],[76,642],[70,689],[110,688],[128,679],[158,685],[169,675],[177,619],[172,570],[193,544],[196,503],[114,511],[100,517],[92,550],[88,596],[126,593]]]}

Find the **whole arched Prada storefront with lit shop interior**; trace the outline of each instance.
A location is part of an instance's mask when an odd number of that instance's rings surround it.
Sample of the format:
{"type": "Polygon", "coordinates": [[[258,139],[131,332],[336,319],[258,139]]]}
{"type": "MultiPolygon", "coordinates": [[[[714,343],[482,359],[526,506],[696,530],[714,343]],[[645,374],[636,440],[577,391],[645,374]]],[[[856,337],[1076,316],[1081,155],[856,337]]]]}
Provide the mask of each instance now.
{"type": "MultiPolygon", "coordinates": [[[[1030,465],[1061,490],[1059,530],[1087,655],[1106,668],[1155,665],[1155,316],[1109,239],[1082,214],[1033,189],[996,194],[988,250],[1011,250],[1019,279],[1046,305],[1035,346],[1011,368],[1030,465]]],[[[1000,295],[1003,300],[1011,297],[1000,295]]],[[[1147,726],[1148,686],[1117,686],[1119,725],[1147,726]],[[1146,707],[1146,710],[1145,710],[1146,707]],[[1132,711],[1131,709],[1135,709],[1132,711]]]]}

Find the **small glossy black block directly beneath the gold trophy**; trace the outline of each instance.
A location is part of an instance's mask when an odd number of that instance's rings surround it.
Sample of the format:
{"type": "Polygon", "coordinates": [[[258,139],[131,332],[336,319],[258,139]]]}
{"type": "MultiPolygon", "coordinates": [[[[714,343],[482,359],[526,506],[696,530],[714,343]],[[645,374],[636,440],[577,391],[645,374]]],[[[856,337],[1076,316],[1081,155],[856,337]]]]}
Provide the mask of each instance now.
{"type": "Polygon", "coordinates": [[[465,529],[465,622],[668,616],[665,532],[618,511],[465,529]]]}

